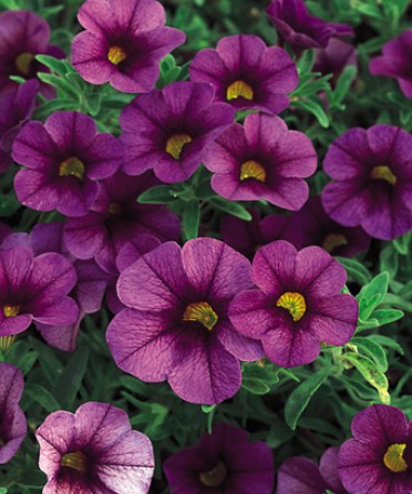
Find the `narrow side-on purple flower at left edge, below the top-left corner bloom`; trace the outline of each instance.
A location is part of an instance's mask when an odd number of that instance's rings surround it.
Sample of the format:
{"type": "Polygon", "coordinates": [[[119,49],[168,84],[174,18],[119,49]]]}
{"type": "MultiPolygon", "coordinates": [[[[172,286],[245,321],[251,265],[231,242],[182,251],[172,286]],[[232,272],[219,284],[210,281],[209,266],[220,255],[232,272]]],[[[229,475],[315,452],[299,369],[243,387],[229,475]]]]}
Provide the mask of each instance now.
{"type": "Polygon", "coordinates": [[[0,173],[12,164],[11,147],[34,110],[39,83],[34,80],[0,93],[0,173]]]}

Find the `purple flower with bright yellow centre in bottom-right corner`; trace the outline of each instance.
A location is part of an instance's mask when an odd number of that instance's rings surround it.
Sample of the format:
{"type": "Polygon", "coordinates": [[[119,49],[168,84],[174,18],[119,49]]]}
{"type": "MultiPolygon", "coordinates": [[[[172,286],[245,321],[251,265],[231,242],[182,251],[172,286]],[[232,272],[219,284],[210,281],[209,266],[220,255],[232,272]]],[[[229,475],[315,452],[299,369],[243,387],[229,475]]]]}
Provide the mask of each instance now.
{"type": "Polygon", "coordinates": [[[351,494],[409,494],[412,422],[395,406],[374,404],[352,421],[353,439],[339,450],[339,474],[351,494]]]}

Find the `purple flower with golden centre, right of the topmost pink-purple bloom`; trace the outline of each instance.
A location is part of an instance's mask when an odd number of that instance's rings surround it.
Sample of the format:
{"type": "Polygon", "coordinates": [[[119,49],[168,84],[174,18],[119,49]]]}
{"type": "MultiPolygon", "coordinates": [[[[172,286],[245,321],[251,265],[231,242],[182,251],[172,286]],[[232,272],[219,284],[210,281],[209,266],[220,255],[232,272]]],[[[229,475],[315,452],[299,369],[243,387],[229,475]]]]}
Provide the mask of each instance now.
{"type": "Polygon", "coordinates": [[[208,82],[215,101],[235,110],[256,109],[280,113],[289,106],[288,93],[299,76],[293,61],[279,47],[268,48],[255,35],[222,38],[216,50],[200,50],[189,66],[190,80],[208,82]]]}

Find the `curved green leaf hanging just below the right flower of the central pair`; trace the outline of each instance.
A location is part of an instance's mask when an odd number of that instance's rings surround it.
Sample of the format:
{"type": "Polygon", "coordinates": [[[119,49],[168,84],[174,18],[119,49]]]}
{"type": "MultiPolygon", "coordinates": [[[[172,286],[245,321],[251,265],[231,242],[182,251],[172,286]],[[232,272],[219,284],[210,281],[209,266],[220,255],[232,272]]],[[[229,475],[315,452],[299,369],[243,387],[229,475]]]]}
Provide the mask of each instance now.
{"type": "Polygon", "coordinates": [[[295,431],[299,418],[308,406],[310,399],[323,384],[332,371],[333,369],[330,367],[320,369],[291,392],[285,405],[285,420],[290,429],[295,431]]]}

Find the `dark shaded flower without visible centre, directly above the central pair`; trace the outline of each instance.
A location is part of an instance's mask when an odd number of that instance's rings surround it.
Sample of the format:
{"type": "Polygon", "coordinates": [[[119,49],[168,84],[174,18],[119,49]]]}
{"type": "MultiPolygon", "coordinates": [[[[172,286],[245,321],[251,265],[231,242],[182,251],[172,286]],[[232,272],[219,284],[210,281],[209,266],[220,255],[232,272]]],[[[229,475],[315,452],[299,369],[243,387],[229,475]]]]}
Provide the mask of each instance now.
{"type": "Polygon", "coordinates": [[[250,222],[227,215],[220,222],[222,239],[247,257],[254,257],[262,245],[282,238],[282,231],[288,224],[287,216],[268,215],[260,218],[258,210],[249,210],[250,222]]]}

